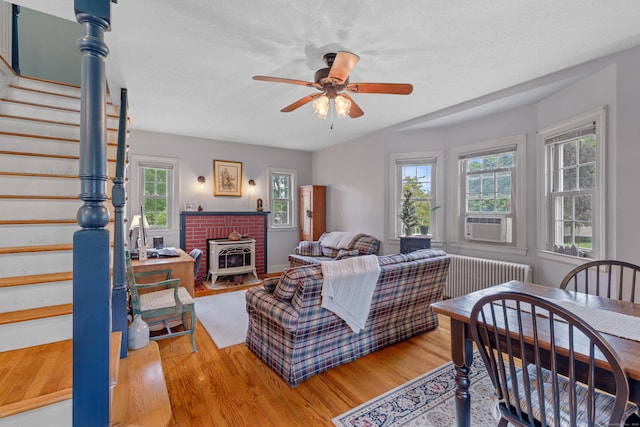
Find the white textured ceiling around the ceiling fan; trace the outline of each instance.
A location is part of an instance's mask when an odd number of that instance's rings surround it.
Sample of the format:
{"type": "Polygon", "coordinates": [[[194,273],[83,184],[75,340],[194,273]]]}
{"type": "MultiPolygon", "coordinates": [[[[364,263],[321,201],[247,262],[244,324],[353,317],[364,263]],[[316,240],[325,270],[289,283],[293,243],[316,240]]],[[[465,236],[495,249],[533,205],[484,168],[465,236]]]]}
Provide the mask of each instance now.
{"type": "MultiPolygon", "coordinates": [[[[75,21],[72,0],[15,3],[75,21]]],[[[640,45],[637,0],[119,0],[111,13],[107,77],[128,89],[133,129],[309,151],[446,123],[487,94],[529,102],[559,83],[513,87],[640,45]],[[364,116],[330,129],[310,104],[280,112],[315,89],[251,79],[313,81],[338,50],[360,56],[351,82],[413,93],[352,94],[364,116]]]]}

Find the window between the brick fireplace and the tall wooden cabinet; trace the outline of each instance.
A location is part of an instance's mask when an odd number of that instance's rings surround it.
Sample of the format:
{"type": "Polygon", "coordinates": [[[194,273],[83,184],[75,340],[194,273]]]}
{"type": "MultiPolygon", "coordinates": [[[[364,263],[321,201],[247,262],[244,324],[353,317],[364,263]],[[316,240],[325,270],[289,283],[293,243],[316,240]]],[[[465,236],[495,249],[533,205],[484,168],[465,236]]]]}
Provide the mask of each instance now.
{"type": "Polygon", "coordinates": [[[296,178],[297,171],[271,169],[271,227],[296,227],[296,178]]]}

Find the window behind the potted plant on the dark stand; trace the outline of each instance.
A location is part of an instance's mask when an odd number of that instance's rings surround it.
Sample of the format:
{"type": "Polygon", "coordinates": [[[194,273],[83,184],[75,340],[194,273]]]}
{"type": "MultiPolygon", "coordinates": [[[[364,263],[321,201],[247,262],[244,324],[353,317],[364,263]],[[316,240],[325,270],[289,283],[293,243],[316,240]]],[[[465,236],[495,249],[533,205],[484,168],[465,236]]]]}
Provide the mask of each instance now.
{"type": "Polygon", "coordinates": [[[394,238],[405,234],[404,225],[400,220],[402,212],[403,193],[411,190],[411,200],[414,203],[417,224],[412,228],[412,234],[443,235],[439,231],[436,189],[440,185],[437,179],[437,162],[439,153],[404,153],[391,156],[394,170],[391,194],[394,195],[394,205],[391,222],[391,236],[394,238]]]}

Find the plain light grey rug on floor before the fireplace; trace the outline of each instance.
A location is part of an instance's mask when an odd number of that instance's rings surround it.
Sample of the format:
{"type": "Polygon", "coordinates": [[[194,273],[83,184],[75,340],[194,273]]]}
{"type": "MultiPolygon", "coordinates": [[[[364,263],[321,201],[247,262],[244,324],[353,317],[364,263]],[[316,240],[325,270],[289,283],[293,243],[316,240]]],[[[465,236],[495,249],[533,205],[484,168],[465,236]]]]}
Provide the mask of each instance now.
{"type": "Polygon", "coordinates": [[[245,289],[195,299],[196,316],[218,348],[245,341],[249,324],[246,293],[245,289]]]}

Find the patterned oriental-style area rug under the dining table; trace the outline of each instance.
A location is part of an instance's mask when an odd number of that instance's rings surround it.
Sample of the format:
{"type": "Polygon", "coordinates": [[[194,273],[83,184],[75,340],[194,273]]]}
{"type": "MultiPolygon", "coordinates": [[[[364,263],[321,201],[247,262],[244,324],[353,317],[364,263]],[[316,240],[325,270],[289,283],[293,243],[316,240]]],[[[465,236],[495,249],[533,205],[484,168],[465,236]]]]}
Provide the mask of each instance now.
{"type": "MultiPolygon", "coordinates": [[[[471,425],[495,427],[493,386],[476,352],[471,380],[471,425]]],[[[387,393],[365,402],[332,421],[338,427],[450,427],[456,425],[455,368],[449,362],[387,393]]]]}

